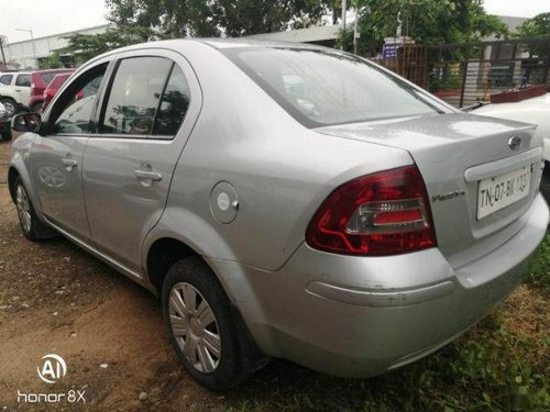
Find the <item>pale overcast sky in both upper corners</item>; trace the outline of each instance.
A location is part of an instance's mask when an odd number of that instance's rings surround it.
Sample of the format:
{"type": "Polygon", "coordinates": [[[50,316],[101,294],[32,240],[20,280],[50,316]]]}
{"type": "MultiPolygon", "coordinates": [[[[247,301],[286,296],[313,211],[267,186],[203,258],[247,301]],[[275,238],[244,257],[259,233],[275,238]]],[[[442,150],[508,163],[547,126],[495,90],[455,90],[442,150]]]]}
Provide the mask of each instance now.
{"type": "MultiPolygon", "coordinates": [[[[435,0],[438,1],[438,0],[435,0]]],[[[550,12],[548,0],[485,0],[491,14],[532,18],[550,12]]],[[[10,43],[107,23],[103,0],[0,0],[0,34],[10,43]]]]}

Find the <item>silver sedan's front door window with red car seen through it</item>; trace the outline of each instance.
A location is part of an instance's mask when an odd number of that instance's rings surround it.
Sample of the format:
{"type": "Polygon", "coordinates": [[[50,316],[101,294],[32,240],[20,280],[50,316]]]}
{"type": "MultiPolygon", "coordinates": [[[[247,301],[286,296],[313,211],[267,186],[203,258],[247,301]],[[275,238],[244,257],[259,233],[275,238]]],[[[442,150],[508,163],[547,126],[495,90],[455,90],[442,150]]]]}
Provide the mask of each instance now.
{"type": "Polygon", "coordinates": [[[61,114],[54,123],[54,133],[82,134],[91,133],[91,113],[96,104],[96,97],[101,85],[107,65],[101,65],[80,76],[62,97],[61,114]]]}

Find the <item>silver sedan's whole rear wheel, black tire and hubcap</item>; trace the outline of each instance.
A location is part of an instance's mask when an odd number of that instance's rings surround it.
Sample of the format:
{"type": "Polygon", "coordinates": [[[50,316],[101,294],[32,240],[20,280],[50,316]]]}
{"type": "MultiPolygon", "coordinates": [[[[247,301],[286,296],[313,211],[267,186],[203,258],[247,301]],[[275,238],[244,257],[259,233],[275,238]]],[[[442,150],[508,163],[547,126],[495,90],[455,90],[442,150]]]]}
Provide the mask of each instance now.
{"type": "Polygon", "coordinates": [[[197,381],[224,390],[246,378],[228,296],[204,260],[194,256],[174,264],[162,301],[169,339],[197,381]]]}

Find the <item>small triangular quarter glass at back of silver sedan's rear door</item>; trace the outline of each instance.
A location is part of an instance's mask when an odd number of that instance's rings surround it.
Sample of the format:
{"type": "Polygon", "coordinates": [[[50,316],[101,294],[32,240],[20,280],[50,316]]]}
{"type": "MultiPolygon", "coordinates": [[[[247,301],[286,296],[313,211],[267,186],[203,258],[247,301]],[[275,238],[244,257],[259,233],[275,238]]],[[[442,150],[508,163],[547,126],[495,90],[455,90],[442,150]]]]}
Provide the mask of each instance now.
{"type": "Polygon", "coordinates": [[[174,136],[189,107],[189,86],[184,71],[174,64],[156,113],[154,135],[174,136]]]}

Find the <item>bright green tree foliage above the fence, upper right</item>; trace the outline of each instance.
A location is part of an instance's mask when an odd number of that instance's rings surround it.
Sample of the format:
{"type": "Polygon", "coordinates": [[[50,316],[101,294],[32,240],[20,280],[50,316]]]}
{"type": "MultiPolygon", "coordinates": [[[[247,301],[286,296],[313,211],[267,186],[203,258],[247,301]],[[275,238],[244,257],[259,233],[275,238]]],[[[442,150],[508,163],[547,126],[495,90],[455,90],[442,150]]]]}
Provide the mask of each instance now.
{"type": "Polygon", "coordinates": [[[507,34],[506,25],[483,9],[483,0],[355,0],[360,43],[380,52],[385,37],[402,34],[418,44],[463,43],[507,34]]]}

